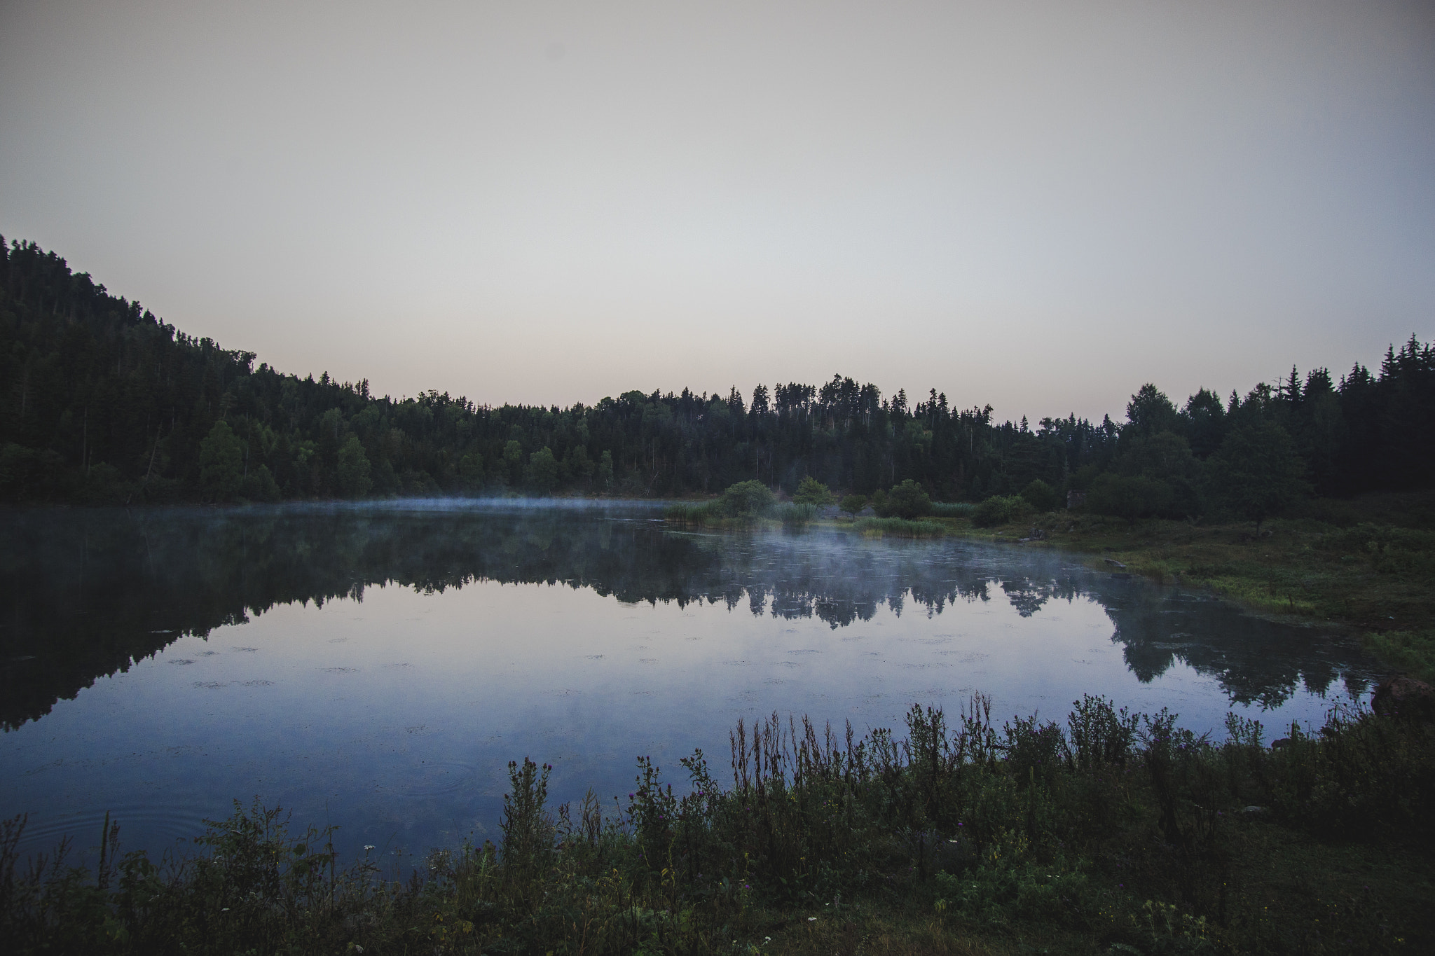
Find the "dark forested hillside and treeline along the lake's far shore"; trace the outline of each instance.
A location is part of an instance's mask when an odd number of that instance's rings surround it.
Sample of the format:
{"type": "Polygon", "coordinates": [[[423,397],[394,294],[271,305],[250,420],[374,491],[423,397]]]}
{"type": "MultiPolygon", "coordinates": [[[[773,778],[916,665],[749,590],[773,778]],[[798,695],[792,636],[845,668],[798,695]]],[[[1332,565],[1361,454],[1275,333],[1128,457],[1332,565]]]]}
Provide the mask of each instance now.
{"type": "Polygon", "coordinates": [[[990,407],[953,408],[936,390],[911,401],[839,376],[746,397],[489,407],[255,367],[34,244],[0,239],[0,257],[6,502],[676,496],[748,479],[791,492],[811,474],[857,493],[913,479],[947,500],[1042,482],[1052,500],[1089,489],[1116,513],[1188,516],[1217,506],[1221,487],[1266,487],[1274,502],[1428,487],[1435,474],[1435,348],[1413,337],[1376,374],[1292,370],[1244,398],[1201,390],[1177,407],[1144,386],[1121,424],[997,424],[990,407]]]}

